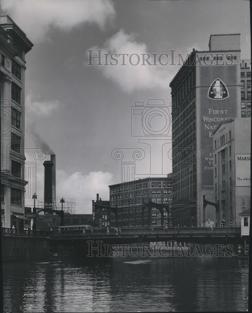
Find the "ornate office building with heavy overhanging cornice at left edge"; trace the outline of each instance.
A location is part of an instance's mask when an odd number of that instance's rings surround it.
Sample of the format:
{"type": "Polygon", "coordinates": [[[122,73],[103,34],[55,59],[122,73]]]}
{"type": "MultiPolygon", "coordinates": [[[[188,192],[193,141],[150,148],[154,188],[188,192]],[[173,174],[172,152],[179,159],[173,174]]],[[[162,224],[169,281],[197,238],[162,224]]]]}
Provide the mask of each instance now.
{"type": "Polygon", "coordinates": [[[25,54],[33,44],[8,16],[1,38],[1,208],[2,227],[24,227],[25,54]]]}

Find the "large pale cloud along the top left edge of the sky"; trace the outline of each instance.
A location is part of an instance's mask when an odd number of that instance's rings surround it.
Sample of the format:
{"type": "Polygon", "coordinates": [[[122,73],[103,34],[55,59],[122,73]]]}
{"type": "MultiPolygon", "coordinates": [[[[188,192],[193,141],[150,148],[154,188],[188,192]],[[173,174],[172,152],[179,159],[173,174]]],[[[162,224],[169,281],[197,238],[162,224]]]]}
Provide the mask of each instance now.
{"type": "Polygon", "coordinates": [[[46,39],[51,26],[66,31],[82,23],[96,23],[103,29],[115,16],[110,0],[2,0],[1,9],[32,42],[46,39]]]}

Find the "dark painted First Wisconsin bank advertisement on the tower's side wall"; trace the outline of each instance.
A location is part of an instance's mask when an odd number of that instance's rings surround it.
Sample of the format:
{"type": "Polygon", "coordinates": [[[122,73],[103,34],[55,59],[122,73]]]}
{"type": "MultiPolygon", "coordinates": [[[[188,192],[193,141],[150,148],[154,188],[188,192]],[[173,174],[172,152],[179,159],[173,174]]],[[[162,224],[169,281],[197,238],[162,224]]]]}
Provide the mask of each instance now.
{"type": "MultiPolygon", "coordinates": [[[[201,189],[214,185],[213,131],[237,117],[237,65],[200,66],[201,189]]],[[[198,105],[198,104],[197,104],[198,105]]]]}

